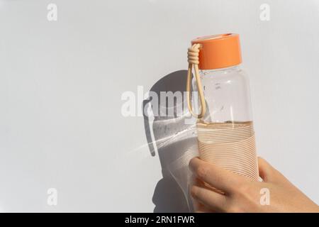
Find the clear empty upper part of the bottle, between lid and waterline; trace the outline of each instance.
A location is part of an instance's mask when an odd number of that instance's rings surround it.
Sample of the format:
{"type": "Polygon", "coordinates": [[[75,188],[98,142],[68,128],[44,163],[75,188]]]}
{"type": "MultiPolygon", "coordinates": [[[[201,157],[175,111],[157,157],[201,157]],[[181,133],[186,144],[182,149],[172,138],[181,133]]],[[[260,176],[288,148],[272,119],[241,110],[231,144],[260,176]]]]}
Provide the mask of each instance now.
{"type": "Polygon", "coordinates": [[[250,84],[240,65],[218,70],[201,70],[200,75],[208,107],[200,121],[252,121],[250,84]]]}

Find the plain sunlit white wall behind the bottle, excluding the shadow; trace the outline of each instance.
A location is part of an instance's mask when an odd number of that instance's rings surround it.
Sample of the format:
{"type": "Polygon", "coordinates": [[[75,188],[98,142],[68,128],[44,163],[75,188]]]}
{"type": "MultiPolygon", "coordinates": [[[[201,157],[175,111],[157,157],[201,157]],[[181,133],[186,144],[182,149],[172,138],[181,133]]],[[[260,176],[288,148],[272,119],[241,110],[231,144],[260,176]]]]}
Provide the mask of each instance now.
{"type": "Polygon", "coordinates": [[[1,211],[153,211],[161,165],[121,94],[185,70],[192,38],[229,32],[259,155],[318,204],[318,12],[318,0],[0,0],[1,211]]]}

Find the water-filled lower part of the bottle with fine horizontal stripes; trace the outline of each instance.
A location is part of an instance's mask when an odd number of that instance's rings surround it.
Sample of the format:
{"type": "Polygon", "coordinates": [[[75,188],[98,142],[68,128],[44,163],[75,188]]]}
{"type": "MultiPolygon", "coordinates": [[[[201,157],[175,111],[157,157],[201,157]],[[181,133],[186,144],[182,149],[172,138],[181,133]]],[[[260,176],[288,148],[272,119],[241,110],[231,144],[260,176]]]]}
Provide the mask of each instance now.
{"type": "Polygon", "coordinates": [[[252,121],[197,123],[199,157],[254,180],[259,179],[252,121]]]}

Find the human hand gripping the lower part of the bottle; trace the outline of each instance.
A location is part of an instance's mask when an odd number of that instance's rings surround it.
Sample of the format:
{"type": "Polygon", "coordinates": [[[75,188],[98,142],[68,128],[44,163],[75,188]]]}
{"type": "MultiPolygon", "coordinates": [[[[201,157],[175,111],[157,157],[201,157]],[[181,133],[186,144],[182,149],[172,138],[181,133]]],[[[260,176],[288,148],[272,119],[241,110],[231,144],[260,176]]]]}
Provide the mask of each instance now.
{"type": "Polygon", "coordinates": [[[237,175],[194,157],[189,166],[196,177],[191,186],[196,212],[319,212],[319,206],[261,157],[262,182],[237,175]],[[213,191],[203,182],[224,193],[213,191]],[[262,191],[261,191],[262,190],[262,191]],[[262,204],[262,192],[269,192],[269,204],[262,204]]]}

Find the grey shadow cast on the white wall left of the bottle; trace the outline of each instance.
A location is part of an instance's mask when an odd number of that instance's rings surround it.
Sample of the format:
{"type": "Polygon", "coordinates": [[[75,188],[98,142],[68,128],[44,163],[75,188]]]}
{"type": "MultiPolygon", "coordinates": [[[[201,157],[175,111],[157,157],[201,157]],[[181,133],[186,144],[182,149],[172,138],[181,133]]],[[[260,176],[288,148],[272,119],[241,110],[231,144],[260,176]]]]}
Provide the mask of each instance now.
{"type": "Polygon", "coordinates": [[[152,196],[154,212],[191,211],[187,157],[197,149],[197,140],[194,118],[184,98],[186,74],[186,70],[179,70],[159,79],[142,104],[150,154],[158,155],[162,167],[162,179],[152,196]]]}

